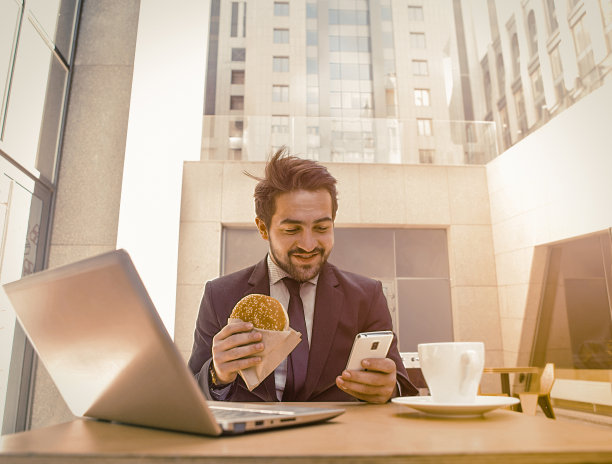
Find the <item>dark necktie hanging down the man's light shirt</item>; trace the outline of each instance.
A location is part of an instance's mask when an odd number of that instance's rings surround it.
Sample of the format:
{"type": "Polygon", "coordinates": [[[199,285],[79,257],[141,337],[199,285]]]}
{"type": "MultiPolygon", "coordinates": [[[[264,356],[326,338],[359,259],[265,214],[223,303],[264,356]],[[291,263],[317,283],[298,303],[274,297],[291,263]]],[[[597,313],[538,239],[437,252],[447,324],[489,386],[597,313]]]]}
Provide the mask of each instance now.
{"type": "Polygon", "coordinates": [[[308,332],[304,320],[304,305],[300,297],[300,283],[285,277],[283,279],[289,290],[289,325],[302,334],[302,340],[287,358],[287,383],[283,392],[283,401],[298,401],[297,397],[306,381],[308,367],[308,332]]]}

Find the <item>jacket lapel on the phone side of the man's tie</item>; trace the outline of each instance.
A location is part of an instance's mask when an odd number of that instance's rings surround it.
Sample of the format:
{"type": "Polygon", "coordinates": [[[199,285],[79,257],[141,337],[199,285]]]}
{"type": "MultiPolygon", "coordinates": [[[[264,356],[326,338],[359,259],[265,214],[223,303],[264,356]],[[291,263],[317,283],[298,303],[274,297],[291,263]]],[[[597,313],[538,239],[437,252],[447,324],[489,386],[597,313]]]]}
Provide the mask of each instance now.
{"type": "MultiPolygon", "coordinates": [[[[317,282],[308,374],[299,398],[302,401],[307,400],[318,386],[323,366],[329,357],[344,303],[344,294],[338,285],[332,268],[327,264],[324,265],[317,282]]],[[[323,387],[328,388],[329,385],[323,387]]]]}

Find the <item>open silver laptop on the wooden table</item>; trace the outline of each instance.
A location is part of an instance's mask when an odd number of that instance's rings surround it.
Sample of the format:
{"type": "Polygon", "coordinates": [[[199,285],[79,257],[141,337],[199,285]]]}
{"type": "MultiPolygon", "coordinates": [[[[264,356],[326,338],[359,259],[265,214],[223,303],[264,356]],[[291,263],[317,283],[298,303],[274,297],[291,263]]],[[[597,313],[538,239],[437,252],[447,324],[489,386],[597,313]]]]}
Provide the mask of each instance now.
{"type": "Polygon", "coordinates": [[[31,274],[4,289],[75,416],[218,436],[344,412],[207,401],[125,250],[31,274]]]}

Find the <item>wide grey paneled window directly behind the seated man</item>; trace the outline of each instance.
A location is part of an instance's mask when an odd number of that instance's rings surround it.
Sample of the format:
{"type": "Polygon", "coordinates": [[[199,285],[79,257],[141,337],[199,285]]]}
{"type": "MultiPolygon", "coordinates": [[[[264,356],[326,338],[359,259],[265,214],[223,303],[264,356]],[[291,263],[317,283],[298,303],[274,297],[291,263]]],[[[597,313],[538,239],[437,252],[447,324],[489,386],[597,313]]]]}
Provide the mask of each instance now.
{"type": "MultiPolygon", "coordinates": [[[[453,340],[445,230],[342,227],[334,234],[329,262],[382,282],[402,351],[453,340]]],[[[224,275],[257,263],[268,251],[255,227],[224,227],[222,243],[224,275]]]]}

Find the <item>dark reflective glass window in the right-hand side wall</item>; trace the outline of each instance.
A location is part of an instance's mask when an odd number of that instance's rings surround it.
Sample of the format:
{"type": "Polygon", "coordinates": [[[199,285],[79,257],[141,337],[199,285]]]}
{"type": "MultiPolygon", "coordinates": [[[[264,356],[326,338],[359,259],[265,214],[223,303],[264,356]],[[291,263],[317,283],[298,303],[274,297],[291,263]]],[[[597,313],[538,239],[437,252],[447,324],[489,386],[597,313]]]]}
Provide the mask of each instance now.
{"type": "Polygon", "coordinates": [[[551,247],[536,363],[612,369],[609,231],[551,247]]]}

